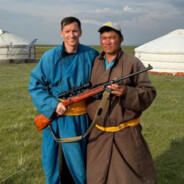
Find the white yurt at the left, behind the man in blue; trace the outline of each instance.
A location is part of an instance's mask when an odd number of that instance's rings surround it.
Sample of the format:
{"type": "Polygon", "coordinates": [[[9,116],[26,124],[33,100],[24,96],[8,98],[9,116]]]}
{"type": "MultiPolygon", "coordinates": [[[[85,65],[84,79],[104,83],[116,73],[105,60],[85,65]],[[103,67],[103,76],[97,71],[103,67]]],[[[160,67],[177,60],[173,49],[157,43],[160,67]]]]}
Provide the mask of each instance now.
{"type": "Polygon", "coordinates": [[[34,44],[32,42],[0,29],[0,64],[35,61],[34,44]]]}

